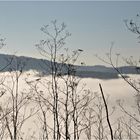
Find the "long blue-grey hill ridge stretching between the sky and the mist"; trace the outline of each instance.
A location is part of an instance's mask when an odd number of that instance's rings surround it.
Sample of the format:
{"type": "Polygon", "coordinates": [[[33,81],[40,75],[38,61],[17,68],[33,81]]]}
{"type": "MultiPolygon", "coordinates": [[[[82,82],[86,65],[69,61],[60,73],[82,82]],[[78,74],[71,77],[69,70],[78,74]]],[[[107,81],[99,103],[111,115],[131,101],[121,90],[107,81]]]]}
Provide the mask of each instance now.
{"type": "MultiPolygon", "coordinates": [[[[23,71],[35,70],[40,73],[49,74],[50,61],[48,60],[37,59],[32,57],[0,54],[0,71],[4,72],[4,71],[14,70],[17,63],[20,64],[19,69],[23,67],[22,68],[23,71]],[[7,66],[7,64],[9,63],[10,65],[7,66]]],[[[79,77],[91,77],[91,78],[98,78],[98,79],[114,79],[119,77],[118,73],[112,67],[106,67],[103,65],[76,66],[76,67],[77,67],[77,76],[79,77]]],[[[119,67],[119,70],[123,74],[140,73],[140,69],[136,69],[136,67],[134,66],[119,67]]]]}

